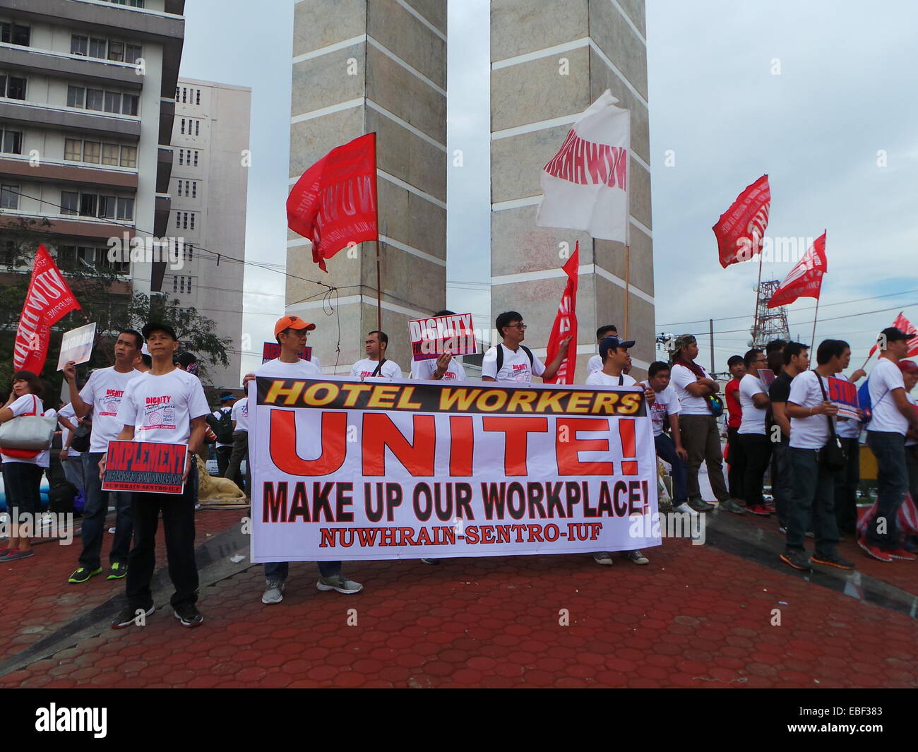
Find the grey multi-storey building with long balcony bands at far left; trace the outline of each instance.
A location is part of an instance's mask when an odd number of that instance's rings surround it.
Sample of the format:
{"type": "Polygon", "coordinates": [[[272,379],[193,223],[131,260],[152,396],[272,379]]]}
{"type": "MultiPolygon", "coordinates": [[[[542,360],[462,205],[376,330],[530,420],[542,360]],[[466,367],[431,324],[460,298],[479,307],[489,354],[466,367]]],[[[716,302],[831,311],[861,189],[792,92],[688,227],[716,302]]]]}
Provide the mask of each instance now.
{"type": "Polygon", "coordinates": [[[112,261],[107,241],[167,234],[184,9],[0,0],[0,210],[50,219],[59,259],[114,265],[140,292],[162,265],[112,261]]]}

